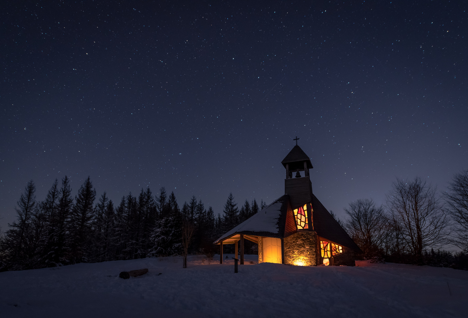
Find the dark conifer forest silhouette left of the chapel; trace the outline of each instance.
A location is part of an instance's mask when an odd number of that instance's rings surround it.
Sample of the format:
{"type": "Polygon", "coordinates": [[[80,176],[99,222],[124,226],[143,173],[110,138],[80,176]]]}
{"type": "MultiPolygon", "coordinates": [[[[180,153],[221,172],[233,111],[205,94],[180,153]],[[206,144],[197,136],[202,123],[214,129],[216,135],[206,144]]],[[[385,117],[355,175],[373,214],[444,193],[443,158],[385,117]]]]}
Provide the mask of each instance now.
{"type": "MultiPolygon", "coordinates": [[[[266,205],[246,200],[239,209],[231,193],[223,215],[215,216],[195,195],[179,208],[164,187],[157,195],[150,188],[138,197],[129,193],[118,205],[104,192],[96,202],[89,177],[74,199],[68,177],[56,180],[44,201],[36,200],[35,190],[29,181],[15,207],[17,220],[0,238],[0,270],[178,255],[187,223],[194,228],[189,252],[212,256],[216,238],[266,205]]],[[[246,253],[256,252],[247,243],[246,253]]]]}

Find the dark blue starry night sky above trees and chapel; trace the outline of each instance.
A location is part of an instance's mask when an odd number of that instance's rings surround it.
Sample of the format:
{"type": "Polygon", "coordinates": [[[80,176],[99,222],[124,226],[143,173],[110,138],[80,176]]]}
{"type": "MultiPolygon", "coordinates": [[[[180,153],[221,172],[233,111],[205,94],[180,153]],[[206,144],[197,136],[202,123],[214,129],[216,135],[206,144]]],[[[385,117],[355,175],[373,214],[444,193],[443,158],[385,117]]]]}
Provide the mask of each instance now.
{"type": "Polygon", "coordinates": [[[1,5],[1,231],[65,175],[117,203],[271,203],[295,136],[340,217],[468,168],[464,1],[97,2],[1,5]]]}

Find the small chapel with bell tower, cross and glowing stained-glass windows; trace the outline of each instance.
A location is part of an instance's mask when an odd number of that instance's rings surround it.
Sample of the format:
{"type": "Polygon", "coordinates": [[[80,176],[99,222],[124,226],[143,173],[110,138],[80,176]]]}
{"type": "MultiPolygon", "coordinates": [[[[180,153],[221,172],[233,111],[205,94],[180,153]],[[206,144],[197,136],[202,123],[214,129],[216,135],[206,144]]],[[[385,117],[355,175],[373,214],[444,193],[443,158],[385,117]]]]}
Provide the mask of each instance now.
{"type": "Polygon", "coordinates": [[[354,266],[355,253],[362,253],[351,237],[312,192],[307,154],[297,145],[281,161],[286,170],[285,194],[249,219],[228,231],[214,244],[240,245],[244,262],[244,239],[258,244],[258,262],[299,266],[354,266]],[[301,175],[302,172],[302,175],[301,175]]]}

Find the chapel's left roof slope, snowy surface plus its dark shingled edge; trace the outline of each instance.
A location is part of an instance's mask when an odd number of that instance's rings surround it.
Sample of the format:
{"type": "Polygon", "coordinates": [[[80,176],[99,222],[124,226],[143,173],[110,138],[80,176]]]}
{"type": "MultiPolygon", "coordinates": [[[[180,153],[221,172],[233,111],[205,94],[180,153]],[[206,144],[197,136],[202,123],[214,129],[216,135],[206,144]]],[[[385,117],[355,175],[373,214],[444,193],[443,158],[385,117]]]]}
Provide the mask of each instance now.
{"type": "Polygon", "coordinates": [[[230,238],[234,234],[283,238],[288,202],[289,195],[281,196],[266,208],[234,227],[231,231],[223,234],[213,243],[218,244],[219,241],[230,238]]]}

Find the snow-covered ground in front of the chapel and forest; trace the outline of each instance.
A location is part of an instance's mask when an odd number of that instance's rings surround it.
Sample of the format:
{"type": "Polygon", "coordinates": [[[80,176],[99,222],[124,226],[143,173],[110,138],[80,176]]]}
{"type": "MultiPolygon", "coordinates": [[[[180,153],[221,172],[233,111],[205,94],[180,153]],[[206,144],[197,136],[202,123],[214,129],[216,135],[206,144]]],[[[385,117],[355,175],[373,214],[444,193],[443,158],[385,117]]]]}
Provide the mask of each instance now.
{"type": "MultiPolygon", "coordinates": [[[[227,255],[231,258],[233,255],[227,255]]],[[[0,317],[468,317],[468,271],[219,264],[203,255],[0,273],[0,317]],[[148,268],[127,280],[124,270],[148,268]],[[161,275],[158,275],[161,273],[161,275]]]]}

